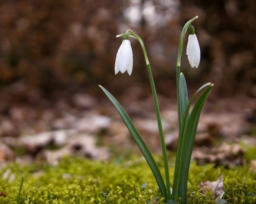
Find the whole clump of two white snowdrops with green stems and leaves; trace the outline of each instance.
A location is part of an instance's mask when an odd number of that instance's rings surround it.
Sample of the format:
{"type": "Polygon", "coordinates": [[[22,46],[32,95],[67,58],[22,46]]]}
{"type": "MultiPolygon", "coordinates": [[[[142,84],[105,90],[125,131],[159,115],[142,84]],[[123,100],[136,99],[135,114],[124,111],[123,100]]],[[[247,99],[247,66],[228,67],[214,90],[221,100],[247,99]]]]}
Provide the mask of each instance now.
{"type": "Polygon", "coordinates": [[[174,181],[171,183],[169,179],[169,166],[167,160],[167,152],[164,141],[164,133],[162,128],[160,109],[158,105],[157,93],[155,89],[154,79],[151,71],[150,62],[148,60],[146,49],[143,43],[143,40],[140,36],[136,35],[133,31],[127,30],[123,34],[119,34],[116,37],[123,37],[122,44],[120,45],[115,62],[115,74],[119,71],[124,73],[127,71],[129,75],[132,74],[133,69],[133,52],[130,42],[130,37],[135,38],[141,45],[143,50],[146,68],[148,71],[148,76],[150,79],[150,85],[153,94],[158,130],[159,130],[159,138],[161,142],[162,148],[162,157],[164,164],[164,177],[161,175],[159,167],[152,156],[150,150],[146,146],[144,140],[141,135],[137,131],[134,123],[132,122],[129,115],[125,112],[123,107],[119,104],[116,98],[105,88],[100,86],[106,96],[109,97],[112,104],[120,114],[124,124],[129,129],[132,137],[137,143],[138,147],[141,150],[144,158],[146,159],[148,165],[150,166],[156,182],[158,184],[161,195],[164,197],[166,203],[178,203],[178,200],[184,204],[187,199],[187,180],[188,180],[188,170],[190,165],[190,159],[192,154],[192,149],[195,141],[195,136],[197,132],[197,126],[199,122],[199,117],[204,106],[205,100],[213,87],[213,84],[206,83],[201,86],[196,93],[188,100],[187,94],[187,85],[184,74],[180,71],[181,65],[181,54],[184,45],[185,34],[188,31],[188,43],[186,47],[186,54],[188,57],[188,61],[190,66],[193,68],[197,68],[200,63],[200,46],[198,43],[197,36],[195,34],[195,29],[191,24],[198,16],[190,19],[184,25],[184,28],[181,32],[179,47],[178,47],[178,57],[177,57],[177,104],[178,104],[178,124],[179,124],[179,140],[178,147],[176,153],[175,160],[175,172],[174,172],[174,181]],[[194,104],[193,108],[191,108],[191,104],[194,104]]]}

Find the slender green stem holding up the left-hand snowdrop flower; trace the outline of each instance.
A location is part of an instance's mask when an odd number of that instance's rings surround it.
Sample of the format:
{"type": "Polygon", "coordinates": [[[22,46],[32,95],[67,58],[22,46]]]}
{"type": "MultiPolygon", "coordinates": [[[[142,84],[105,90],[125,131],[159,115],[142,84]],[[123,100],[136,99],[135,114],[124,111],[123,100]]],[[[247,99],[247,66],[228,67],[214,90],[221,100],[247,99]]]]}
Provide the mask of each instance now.
{"type": "Polygon", "coordinates": [[[153,75],[152,75],[152,71],[151,71],[151,66],[150,66],[150,62],[149,62],[147,54],[146,54],[146,49],[145,49],[145,46],[144,46],[144,43],[143,43],[143,40],[141,39],[141,37],[136,35],[131,30],[127,30],[127,32],[130,32],[132,34],[132,37],[135,37],[140,42],[140,45],[142,47],[143,54],[145,57],[148,77],[150,79],[150,85],[151,85],[151,90],[152,90],[152,94],[153,94],[153,100],[154,100],[154,106],[155,106],[155,112],[156,112],[157,124],[158,124],[158,131],[159,131],[160,143],[161,143],[161,148],[162,148],[164,173],[165,173],[165,185],[166,185],[166,191],[167,191],[166,201],[168,201],[170,199],[169,166],[168,166],[167,151],[166,151],[166,146],[165,146],[165,141],[164,141],[162,121],[161,121],[161,116],[160,116],[160,109],[159,109],[159,104],[158,104],[158,99],[157,99],[156,87],[155,87],[155,83],[154,83],[154,79],[153,79],[153,75]]]}

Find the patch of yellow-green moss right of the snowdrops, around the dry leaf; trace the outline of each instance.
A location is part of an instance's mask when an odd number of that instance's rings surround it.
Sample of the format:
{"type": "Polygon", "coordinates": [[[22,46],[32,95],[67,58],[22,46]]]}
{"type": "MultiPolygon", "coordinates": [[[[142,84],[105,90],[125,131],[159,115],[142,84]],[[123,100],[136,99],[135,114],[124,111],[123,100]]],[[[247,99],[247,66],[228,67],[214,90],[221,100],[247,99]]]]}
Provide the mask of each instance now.
{"type": "Polygon", "coordinates": [[[201,194],[199,184],[202,180],[216,181],[221,174],[224,175],[223,199],[229,203],[256,203],[255,174],[248,165],[223,169],[213,168],[212,165],[198,166],[195,163],[191,165],[189,173],[189,203],[215,203],[210,194],[201,194]]]}

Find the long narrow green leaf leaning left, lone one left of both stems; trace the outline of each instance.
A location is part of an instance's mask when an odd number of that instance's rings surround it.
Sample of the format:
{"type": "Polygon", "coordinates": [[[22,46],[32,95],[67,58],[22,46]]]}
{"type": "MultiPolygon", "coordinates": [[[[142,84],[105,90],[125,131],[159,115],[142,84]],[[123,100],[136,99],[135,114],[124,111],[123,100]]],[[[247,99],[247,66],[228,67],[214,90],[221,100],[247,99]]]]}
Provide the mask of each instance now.
{"type": "Polygon", "coordinates": [[[134,126],[131,118],[125,112],[125,110],[122,108],[122,106],[119,104],[119,102],[116,100],[116,98],[108,90],[106,90],[102,86],[99,86],[99,87],[103,90],[103,92],[106,94],[106,96],[108,96],[108,98],[110,99],[110,101],[114,105],[115,109],[117,110],[117,112],[121,116],[124,124],[127,126],[127,129],[130,131],[132,137],[134,138],[136,144],[138,145],[140,151],[142,152],[142,155],[146,159],[148,165],[150,166],[150,168],[151,168],[151,170],[152,170],[152,172],[155,176],[156,182],[158,184],[158,187],[159,187],[159,190],[160,190],[162,196],[166,199],[166,196],[167,196],[166,186],[164,184],[161,172],[160,172],[160,170],[159,170],[159,168],[156,164],[156,161],[153,158],[150,150],[148,149],[148,147],[146,146],[142,137],[140,136],[139,132],[137,131],[136,127],[134,126]]]}

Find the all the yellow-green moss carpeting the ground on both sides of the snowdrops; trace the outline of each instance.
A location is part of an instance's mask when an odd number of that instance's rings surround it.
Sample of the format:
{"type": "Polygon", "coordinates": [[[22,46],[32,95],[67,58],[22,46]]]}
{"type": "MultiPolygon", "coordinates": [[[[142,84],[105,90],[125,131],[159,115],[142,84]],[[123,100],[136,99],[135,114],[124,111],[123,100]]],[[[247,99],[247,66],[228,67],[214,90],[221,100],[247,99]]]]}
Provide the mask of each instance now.
{"type": "MultiPolygon", "coordinates": [[[[256,159],[255,147],[247,152],[248,162],[256,159]]],[[[156,158],[163,171],[161,157],[156,158]]],[[[215,203],[210,195],[201,194],[199,184],[202,180],[216,181],[221,174],[225,178],[226,201],[256,203],[256,171],[249,165],[224,169],[195,163],[189,172],[188,203],[215,203]]],[[[173,175],[172,164],[170,175],[173,175]]],[[[0,203],[163,203],[163,198],[142,158],[111,162],[65,158],[58,165],[10,163],[1,167],[0,203]]]]}

